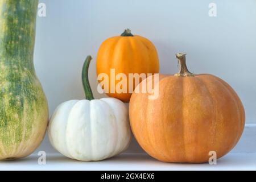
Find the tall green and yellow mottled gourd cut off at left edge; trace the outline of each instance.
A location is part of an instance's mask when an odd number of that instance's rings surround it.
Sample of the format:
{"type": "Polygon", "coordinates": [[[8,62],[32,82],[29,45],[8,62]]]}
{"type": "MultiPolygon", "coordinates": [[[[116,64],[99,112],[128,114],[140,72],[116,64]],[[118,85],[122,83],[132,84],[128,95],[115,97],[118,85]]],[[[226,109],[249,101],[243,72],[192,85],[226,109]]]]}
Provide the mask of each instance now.
{"type": "Polygon", "coordinates": [[[0,160],[30,155],[42,142],[48,106],[33,54],[38,1],[0,1],[0,160]]]}

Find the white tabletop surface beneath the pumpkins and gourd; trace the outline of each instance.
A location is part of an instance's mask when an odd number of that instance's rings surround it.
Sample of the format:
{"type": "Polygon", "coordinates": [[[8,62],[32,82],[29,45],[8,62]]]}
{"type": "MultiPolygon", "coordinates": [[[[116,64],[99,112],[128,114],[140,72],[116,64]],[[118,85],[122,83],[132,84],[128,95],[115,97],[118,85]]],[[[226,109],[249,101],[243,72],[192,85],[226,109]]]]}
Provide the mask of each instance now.
{"type": "Polygon", "coordinates": [[[46,165],[38,164],[37,155],[0,162],[0,170],[256,170],[256,154],[228,154],[217,165],[172,164],[152,159],[147,154],[121,154],[101,162],[79,162],[60,154],[48,154],[46,165]]]}

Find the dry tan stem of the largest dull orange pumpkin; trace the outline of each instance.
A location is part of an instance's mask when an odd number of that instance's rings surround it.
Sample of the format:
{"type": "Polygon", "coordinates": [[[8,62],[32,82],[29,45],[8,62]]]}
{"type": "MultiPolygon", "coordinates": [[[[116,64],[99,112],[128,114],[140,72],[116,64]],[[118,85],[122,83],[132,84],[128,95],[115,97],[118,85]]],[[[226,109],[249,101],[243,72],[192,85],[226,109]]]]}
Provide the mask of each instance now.
{"type": "Polygon", "coordinates": [[[179,65],[179,73],[176,73],[175,76],[195,76],[195,74],[188,71],[187,64],[186,64],[186,54],[185,53],[177,53],[176,57],[178,59],[179,65]]]}

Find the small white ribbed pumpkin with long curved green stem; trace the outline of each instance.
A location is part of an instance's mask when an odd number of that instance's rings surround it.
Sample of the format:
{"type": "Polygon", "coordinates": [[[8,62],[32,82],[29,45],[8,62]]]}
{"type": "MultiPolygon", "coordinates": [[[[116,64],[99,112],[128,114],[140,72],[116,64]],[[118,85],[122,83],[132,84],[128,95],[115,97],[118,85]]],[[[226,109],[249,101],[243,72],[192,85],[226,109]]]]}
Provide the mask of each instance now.
{"type": "Polygon", "coordinates": [[[53,147],[68,158],[97,161],[126,150],[131,140],[128,109],[115,98],[94,100],[88,88],[89,56],[83,84],[89,100],[71,100],[57,107],[49,122],[53,147]]]}

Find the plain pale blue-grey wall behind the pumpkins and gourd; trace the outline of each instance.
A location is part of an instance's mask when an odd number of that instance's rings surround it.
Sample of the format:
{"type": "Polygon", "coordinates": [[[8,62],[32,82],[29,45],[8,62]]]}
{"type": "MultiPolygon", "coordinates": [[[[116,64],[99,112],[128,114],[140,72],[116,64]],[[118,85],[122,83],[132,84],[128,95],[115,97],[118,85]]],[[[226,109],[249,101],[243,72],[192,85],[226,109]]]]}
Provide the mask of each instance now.
{"type": "MultiPolygon", "coordinates": [[[[125,28],[150,39],[158,50],[160,73],[177,72],[175,53],[187,52],[194,73],[227,81],[240,96],[246,123],[256,122],[255,0],[42,0],[47,16],[38,18],[35,69],[48,98],[49,111],[61,102],[84,99],[81,68],[87,55],[96,98],[95,60],[100,44],[125,28]],[[209,17],[209,3],[217,16],[209,17]]],[[[43,149],[53,151],[44,141],[43,149]]],[[[41,148],[41,149],[42,149],[41,148]]],[[[130,152],[139,151],[133,141],[130,152]]]]}

